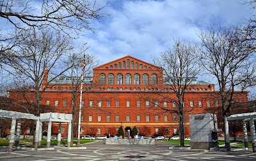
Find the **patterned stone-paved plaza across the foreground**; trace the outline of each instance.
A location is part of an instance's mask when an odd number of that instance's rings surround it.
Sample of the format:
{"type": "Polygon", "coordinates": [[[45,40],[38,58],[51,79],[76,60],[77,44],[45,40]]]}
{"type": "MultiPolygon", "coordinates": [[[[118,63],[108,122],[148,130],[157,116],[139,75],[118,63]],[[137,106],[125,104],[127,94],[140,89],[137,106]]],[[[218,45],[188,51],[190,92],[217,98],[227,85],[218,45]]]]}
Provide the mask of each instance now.
{"type": "Polygon", "coordinates": [[[47,151],[15,150],[0,148],[1,161],[18,160],[256,160],[252,150],[212,151],[212,150],[169,150],[173,144],[156,141],[155,145],[106,145],[105,141],[84,144],[86,150],[54,149],[47,151]]]}

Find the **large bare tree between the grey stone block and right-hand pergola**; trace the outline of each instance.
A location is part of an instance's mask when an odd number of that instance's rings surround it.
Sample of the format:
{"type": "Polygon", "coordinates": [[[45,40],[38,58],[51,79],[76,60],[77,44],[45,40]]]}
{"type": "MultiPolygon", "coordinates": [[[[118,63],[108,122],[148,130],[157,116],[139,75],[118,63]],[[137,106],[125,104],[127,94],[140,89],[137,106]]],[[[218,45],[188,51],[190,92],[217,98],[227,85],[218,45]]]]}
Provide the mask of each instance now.
{"type": "Polygon", "coordinates": [[[239,27],[230,25],[210,25],[207,30],[202,29],[198,37],[201,39],[198,48],[200,62],[218,83],[225,145],[230,150],[227,116],[234,102],[235,90],[243,90],[255,82],[255,41],[246,39],[239,27]]]}

